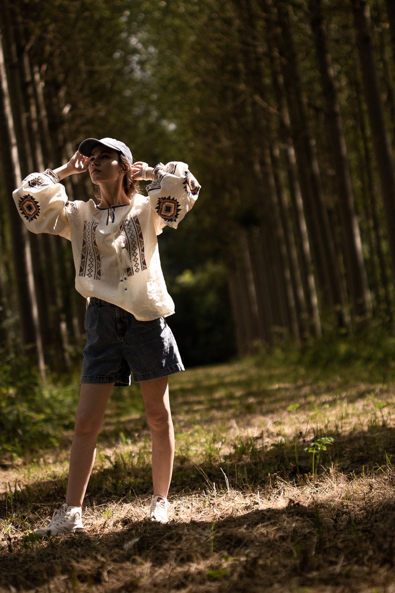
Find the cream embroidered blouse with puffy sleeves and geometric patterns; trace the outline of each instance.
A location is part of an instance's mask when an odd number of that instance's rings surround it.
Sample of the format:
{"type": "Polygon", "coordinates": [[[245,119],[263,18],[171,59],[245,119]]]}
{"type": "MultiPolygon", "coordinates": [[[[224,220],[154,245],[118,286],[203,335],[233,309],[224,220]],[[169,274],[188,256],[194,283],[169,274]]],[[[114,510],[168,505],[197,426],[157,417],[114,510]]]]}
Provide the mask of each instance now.
{"type": "Polygon", "coordinates": [[[177,228],[197,200],[200,185],[184,162],[159,163],[148,196],[99,208],[94,200],[70,202],[65,186],[47,169],[31,173],[13,192],[32,232],[49,232],[72,244],[75,287],[129,311],[140,321],[174,313],[160,266],[158,235],[177,228]]]}

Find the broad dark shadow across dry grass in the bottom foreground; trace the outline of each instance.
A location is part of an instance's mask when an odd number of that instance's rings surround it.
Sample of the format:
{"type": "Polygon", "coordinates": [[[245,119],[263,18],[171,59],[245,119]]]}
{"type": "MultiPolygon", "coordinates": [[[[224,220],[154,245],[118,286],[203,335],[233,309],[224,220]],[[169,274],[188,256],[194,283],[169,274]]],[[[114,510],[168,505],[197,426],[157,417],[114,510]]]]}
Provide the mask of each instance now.
{"type": "Polygon", "coordinates": [[[210,522],[125,519],[115,534],[72,535],[15,550],[10,542],[1,554],[0,584],[2,591],[46,585],[46,591],[241,593],[304,586],[360,593],[378,579],[395,579],[394,521],[393,500],[358,512],[345,503],[290,501],[210,522]]]}

